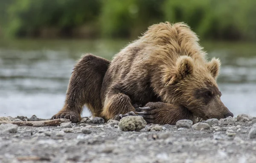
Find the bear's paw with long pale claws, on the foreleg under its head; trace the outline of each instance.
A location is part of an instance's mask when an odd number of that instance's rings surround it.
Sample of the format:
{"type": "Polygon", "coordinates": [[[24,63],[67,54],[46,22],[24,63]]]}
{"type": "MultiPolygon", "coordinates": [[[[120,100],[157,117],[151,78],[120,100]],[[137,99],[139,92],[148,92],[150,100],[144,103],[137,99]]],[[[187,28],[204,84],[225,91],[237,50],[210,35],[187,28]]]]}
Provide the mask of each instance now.
{"type": "Polygon", "coordinates": [[[157,123],[157,112],[159,109],[155,107],[139,107],[136,109],[137,115],[144,118],[147,123],[157,123]]]}

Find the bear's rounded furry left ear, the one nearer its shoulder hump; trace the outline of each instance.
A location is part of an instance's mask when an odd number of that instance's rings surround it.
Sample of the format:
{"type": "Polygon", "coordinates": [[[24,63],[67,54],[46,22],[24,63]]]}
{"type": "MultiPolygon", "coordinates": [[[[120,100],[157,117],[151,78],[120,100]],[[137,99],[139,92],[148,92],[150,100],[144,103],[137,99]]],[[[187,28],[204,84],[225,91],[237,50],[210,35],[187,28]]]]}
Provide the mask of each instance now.
{"type": "Polygon", "coordinates": [[[176,69],[176,77],[178,79],[183,79],[187,75],[192,74],[194,70],[193,59],[186,55],[179,57],[176,61],[176,69]]]}

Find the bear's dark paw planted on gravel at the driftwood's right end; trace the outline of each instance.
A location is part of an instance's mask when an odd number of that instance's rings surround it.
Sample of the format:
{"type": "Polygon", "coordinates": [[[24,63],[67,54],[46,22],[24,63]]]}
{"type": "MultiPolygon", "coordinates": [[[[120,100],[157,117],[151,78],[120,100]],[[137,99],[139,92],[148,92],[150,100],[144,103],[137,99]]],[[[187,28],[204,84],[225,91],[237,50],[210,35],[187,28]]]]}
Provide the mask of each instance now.
{"type": "Polygon", "coordinates": [[[60,119],[60,118],[71,120],[72,123],[78,123],[81,121],[81,116],[76,112],[72,112],[72,111],[58,112],[58,114],[55,114],[54,116],[52,116],[51,120],[60,119]]]}

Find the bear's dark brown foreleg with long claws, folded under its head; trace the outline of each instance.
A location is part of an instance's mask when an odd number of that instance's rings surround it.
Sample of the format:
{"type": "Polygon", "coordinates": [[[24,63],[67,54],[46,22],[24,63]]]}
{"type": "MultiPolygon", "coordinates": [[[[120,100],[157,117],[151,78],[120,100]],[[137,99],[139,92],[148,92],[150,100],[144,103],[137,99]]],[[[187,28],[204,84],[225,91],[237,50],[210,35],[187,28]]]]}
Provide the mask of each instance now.
{"type": "Polygon", "coordinates": [[[193,116],[186,108],[170,103],[147,103],[145,107],[137,108],[136,113],[142,116],[147,123],[175,125],[178,120],[190,119],[193,116]]]}

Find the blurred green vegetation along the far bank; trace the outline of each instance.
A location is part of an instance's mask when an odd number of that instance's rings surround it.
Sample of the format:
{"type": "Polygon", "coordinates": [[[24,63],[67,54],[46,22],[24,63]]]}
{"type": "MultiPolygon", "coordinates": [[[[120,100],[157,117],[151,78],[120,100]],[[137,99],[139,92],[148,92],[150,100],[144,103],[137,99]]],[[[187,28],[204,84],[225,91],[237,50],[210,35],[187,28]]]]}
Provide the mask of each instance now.
{"type": "Polygon", "coordinates": [[[185,22],[203,39],[256,40],[256,0],[0,0],[2,37],[135,38],[185,22]]]}

